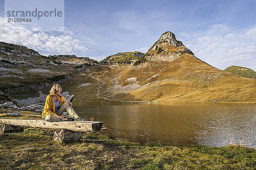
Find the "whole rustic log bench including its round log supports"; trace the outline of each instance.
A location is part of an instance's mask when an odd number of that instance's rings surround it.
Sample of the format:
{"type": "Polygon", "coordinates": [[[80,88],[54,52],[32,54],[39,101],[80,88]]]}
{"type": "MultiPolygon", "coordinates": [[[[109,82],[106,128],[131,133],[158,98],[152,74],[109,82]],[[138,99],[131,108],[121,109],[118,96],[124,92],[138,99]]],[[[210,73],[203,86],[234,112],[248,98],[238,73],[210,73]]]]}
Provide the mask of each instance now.
{"type": "Polygon", "coordinates": [[[0,119],[0,123],[3,124],[0,133],[21,133],[24,127],[57,129],[53,140],[59,142],[79,141],[81,132],[98,132],[103,124],[93,121],[46,122],[27,119],[0,119]]]}

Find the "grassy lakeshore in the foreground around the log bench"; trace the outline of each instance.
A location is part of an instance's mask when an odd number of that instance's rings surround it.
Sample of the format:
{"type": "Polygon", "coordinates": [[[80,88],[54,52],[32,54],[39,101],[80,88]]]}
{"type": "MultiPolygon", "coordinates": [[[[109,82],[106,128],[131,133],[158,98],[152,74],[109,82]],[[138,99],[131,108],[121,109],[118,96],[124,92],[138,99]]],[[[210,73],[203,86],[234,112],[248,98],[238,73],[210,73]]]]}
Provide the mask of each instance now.
{"type": "MultiPolygon", "coordinates": [[[[6,113],[0,118],[10,118],[6,113]]],[[[11,118],[40,115],[23,111],[11,118]]],[[[82,133],[79,142],[59,143],[53,141],[54,131],[25,128],[23,133],[0,134],[0,170],[256,169],[256,150],[248,147],[142,145],[102,133],[82,133]]]]}

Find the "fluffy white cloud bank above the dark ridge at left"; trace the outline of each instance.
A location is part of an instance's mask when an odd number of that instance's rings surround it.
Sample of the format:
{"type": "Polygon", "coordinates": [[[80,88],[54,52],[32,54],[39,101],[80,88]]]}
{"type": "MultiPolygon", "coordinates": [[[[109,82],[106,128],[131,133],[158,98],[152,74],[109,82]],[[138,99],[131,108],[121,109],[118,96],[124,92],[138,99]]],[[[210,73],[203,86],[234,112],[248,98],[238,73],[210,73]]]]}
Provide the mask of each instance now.
{"type": "Polygon", "coordinates": [[[26,28],[23,24],[8,23],[5,17],[0,17],[0,41],[24,45],[36,51],[49,54],[76,54],[88,52],[74,33],[61,27],[58,32],[45,31],[40,27],[26,28]]]}

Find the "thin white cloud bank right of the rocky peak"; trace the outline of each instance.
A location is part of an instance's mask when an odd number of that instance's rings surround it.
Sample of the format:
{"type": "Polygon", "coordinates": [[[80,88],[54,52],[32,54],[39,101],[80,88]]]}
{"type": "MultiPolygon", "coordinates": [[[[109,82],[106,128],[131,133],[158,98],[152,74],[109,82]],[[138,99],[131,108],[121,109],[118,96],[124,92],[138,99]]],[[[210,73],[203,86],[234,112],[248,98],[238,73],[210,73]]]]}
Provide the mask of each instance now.
{"type": "Polygon", "coordinates": [[[239,65],[256,71],[256,25],[234,30],[215,24],[205,33],[190,35],[190,40],[187,34],[180,35],[196,57],[216,68],[239,65]]]}

